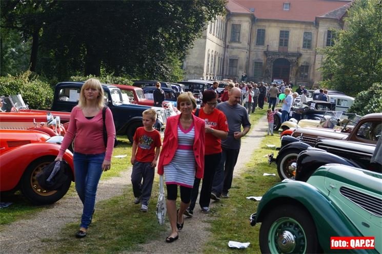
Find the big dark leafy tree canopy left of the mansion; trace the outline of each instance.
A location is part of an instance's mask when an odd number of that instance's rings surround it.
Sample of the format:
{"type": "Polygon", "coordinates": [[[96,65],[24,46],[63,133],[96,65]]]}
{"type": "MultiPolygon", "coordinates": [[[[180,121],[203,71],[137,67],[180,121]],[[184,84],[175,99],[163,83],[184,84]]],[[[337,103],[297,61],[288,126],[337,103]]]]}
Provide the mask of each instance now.
{"type": "Polygon", "coordinates": [[[177,76],[179,60],[226,4],[226,0],[45,0],[37,1],[37,6],[35,2],[2,1],[2,28],[17,29],[28,38],[34,35],[36,72],[57,79],[99,76],[102,68],[118,76],[177,76]]]}

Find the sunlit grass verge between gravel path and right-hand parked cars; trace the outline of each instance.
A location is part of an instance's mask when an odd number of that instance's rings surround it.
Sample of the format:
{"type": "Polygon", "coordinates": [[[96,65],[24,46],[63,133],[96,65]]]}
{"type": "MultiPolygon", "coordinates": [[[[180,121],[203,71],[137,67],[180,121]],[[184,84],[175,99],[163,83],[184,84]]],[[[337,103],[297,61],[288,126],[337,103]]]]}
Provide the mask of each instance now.
{"type": "MultiPolygon", "coordinates": [[[[205,245],[203,253],[260,253],[258,245],[259,225],[249,224],[249,216],[256,212],[256,201],[247,200],[248,196],[263,194],[280,179],[275,164],[269,165],[264,156],[275,152],[266,144],[280,144],[278,135],[266,136],[261,148],[256,150],[246,165],[246,172],[233,179],[230,198],[215,202],[213,206],[212,237],[205,245]],[[263,176],[263,173],[275,173],[276,176],[263,176]],[[231,249],[228,241],[250,242],[247,249],[231,249]]],[[[243,149],[243,148],[242,148],[243,149]]],[[[276,153],[275,153],[276,155],[276,153]]]]}

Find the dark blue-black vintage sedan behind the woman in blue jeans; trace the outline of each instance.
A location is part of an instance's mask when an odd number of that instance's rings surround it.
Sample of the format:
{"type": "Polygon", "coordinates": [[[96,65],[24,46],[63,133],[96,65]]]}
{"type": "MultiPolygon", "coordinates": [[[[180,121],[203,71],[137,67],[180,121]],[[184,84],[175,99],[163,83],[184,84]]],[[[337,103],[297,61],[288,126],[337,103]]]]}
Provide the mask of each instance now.
{"type": "MultiPolygon", "coordinates": [[[[53,97],[53,111],[71,112],[78,104],[79,92],[84,82],[61,82],[56,84],[53,97]]],[[[102,84],[105,92],[105,101],[110,108],[117,135],[127,135],[130,142],[133,141],[135,130],[143,126],[142,112],[153,108],[157,112],[157,123],[155,128],[163,130],[166,124],[167,115],[163,108],[149,107],[137,104],[124,104],[122,93],[111,84],[102,84]]]]}

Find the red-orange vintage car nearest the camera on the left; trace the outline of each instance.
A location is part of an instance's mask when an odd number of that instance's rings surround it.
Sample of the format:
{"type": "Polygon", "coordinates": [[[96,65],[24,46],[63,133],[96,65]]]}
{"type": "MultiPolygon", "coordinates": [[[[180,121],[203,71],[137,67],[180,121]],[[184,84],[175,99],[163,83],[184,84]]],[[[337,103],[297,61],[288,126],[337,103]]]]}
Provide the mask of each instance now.
{"type": "Polygon", "coordinates": [[[61,199],[74,180],[73,154],[67,150],[63,159],[70,167],[68,180],[58,190],[47,191],[39,186],[36,175],[54,161],[59,145],[56,138],[31,130],[0,130],[0,192],[21,189],[34,204],[51,204],[61,199]]]}

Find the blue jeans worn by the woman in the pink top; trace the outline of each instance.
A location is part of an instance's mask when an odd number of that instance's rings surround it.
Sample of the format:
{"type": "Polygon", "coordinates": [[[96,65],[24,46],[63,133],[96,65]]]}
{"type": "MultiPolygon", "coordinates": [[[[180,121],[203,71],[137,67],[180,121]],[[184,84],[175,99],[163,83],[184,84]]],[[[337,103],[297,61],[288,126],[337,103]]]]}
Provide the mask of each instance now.
{"type": "Polygon", "coordinates": [[[84,205],[80,227],[88,228],[90,224],[104,159],[105,153],[80,154],[74,152],[75,189],[84,205]]]}

